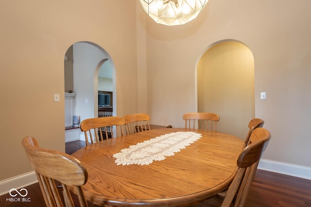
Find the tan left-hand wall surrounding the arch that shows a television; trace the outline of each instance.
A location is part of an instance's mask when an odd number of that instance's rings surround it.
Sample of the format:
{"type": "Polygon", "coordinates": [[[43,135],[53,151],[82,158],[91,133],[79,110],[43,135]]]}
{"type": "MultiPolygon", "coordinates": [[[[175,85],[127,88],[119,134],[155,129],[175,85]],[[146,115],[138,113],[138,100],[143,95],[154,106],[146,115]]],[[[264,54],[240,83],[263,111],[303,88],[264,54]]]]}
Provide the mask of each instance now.
{"type": "Polygon", "coordinates": [[[21,146],[34,136],[42,147],[65,151],[64,55],[79,41],[111,56],[118,112],[137,112],[136,1],[0,1],[0,180],[32,171],[21,146]],[[60,94],[60,102],[53,102],[60,94]],[[126,97],[125,97],[126,96],[126,97]]]}

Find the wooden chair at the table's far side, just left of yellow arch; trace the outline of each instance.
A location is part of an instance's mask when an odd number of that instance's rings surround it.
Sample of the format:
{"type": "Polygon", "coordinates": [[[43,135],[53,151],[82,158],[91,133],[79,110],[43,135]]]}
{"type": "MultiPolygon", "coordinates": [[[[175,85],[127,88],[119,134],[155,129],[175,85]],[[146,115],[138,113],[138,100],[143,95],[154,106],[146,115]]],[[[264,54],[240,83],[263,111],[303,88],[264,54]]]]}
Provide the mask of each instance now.
{"type": "Polygon", "coordinates": [[[217,122],[219,121],[219,115],[216,113],[185,113],[183,115],[185,120],[185,128],[201,128],[211,131],[217,131],[217,122]],[[191,127],[192,126],[192,127],[191,127]]]}

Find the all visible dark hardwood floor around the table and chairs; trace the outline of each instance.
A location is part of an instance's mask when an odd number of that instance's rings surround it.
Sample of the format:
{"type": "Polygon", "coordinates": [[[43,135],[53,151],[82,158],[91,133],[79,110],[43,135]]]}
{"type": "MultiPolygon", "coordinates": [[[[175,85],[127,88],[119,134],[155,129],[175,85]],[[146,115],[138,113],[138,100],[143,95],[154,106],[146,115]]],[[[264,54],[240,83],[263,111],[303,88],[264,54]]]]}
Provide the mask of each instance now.
{"type": "MultiPolygon", "coordinates": [[[[85,145],[84,141],[66,143],[66,153],[72,154],[85,145]]],[[[37,183],[26,189],[27,202],[10,201],[12,197],[5,194],[0,196],[0,207],[45,207],[37,183]]],[[[74,203],[78,207],[77,199],[74,203]]],[[[257,170],[245,207],[311,207],[311,180],[257,170]]]]}

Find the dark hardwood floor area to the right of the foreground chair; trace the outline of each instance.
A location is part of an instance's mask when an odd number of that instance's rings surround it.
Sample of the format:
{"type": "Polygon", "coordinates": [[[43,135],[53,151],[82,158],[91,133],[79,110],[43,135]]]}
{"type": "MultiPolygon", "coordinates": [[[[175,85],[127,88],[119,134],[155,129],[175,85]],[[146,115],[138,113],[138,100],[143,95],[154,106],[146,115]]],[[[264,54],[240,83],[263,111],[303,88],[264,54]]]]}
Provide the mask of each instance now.
{"type": "Polygon", "coordinates": [[[257,170],[245,207],[311,207],[311,180],[257,170]]]}

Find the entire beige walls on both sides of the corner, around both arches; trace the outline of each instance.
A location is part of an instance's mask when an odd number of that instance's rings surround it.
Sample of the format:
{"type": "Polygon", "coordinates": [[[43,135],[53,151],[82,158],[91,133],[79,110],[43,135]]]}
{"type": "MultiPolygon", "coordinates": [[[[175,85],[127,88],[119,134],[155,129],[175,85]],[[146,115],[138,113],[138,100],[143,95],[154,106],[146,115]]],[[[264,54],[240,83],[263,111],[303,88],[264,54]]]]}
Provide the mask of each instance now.
{"type": "Polygon", "coordinates": [[[264,158],[311,167],[310,0],[210,0],[196,20],[177,27],[145,20],[138,4],[0,1],[0,180],[32,171],[24,136],[65,150],[64,54],[79,41],[111,56],[117,115],[137,112],[127,105],[135,99],[153,124],[173,127],[196,109],[195,68],[206,49],[224,39],[243,42],[255,60],[255,115],[273,136],[264,158]],[[61,94],[59,103],[53,94],[61,94]]]}

